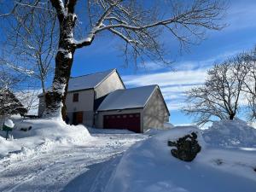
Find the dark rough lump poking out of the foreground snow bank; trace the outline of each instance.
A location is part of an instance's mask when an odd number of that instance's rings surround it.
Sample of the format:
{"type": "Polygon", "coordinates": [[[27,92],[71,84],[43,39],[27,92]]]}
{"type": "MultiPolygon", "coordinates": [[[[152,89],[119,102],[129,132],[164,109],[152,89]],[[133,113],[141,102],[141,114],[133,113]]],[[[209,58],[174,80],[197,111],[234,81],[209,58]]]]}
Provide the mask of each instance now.
{"type": "Polygon", "coordinates": [[[192,132],[189,135],[181,137],[177,142],[168,141],[168,145],[172,148],[171,152],[174,157],[183,161],[192,161],[196,154],[201,151],[201,146],[198,144],[197,135],[192,132]]]}

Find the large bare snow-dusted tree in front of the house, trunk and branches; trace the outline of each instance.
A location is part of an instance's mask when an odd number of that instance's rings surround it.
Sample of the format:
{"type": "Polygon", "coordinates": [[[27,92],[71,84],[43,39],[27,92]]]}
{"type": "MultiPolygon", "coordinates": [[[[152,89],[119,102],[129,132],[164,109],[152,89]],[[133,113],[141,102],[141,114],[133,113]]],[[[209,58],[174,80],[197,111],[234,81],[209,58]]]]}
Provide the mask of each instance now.
{"type": "MultiPolygon", "coordinates": [[[[68,80],[76,49],[90,46],[102,32],[120,38],[124,43],[125,61],[165,60],[164,43],[160,35],[168,32],[182,46],[197,43],[207,30],[220,30],[218,24],[225,9],[224,3],[212,0],[157,1],[147,3],[138,0],[87,0],[84,22],[77,22],[77,0],[49,0],[59,21],[58,51],[55,56],[55,76],[51,90],[46,93],[45,116],[65,117],[65,99],[68,80]],[[78,39],[78,24],[85,23],[86,35],[78,39]]],[[[37,14],[45,9],[48,1],[15,2],[17,8],[37,14]]],[[[80,7],[80,6],[79,6],[80,7]]],[[[17,9],[16,8],[16,9],[17,9]]],[[[13,9],[10,9],[11,11],[13,9]]],[[[31,15],[31,14],[30,14],[31,15]]],[[[82,17],[79,21],[83,20],[82,17]]]]}

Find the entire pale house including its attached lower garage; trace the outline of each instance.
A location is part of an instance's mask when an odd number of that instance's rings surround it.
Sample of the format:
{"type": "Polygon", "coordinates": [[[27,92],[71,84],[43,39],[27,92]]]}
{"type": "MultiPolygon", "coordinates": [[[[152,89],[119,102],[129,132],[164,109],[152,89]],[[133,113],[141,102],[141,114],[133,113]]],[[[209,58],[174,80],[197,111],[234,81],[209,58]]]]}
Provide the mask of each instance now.
{"type": "MultiPolygon", "coordinates": [[[[38,97],[38,116],[41,116],[44,97],[38,97]]],[[[158,85],[126,89],[116,69],[71,78],[66,106],[73,125],[135,132],[164,128],[170,116],[158,85]]]]}

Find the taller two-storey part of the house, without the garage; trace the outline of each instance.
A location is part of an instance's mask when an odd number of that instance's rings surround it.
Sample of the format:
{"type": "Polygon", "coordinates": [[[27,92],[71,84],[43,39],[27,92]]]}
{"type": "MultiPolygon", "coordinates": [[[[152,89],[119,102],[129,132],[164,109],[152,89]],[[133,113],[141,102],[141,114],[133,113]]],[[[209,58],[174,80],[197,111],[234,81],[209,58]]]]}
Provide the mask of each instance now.
{"type": "MultiPolygon", "coordinates": [[[[116,69],[69,79],[66,97],[67,117],[73,125],[95,125],[95,112],[104,96],[125,89],[116,69]]],[[[44,96],[39,97],[38,116],[44,113],[44,96]]]]}

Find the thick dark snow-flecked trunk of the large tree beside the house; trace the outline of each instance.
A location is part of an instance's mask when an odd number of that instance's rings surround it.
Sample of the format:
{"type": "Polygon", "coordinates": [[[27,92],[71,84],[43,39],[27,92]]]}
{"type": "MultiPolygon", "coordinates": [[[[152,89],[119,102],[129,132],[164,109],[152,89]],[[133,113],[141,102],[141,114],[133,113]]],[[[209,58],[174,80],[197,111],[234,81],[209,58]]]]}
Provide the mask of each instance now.
{"type": "Polygon", "coordinates": [[[66,117],[65,100],[67,96],[68,80],[73,64],[75,46],[73,44],[73,28],[75,17],[68,14],[60,21],[59,49],[55,56],[55,76],[51,90],[45,94],[46,118],[66,117]]]}

